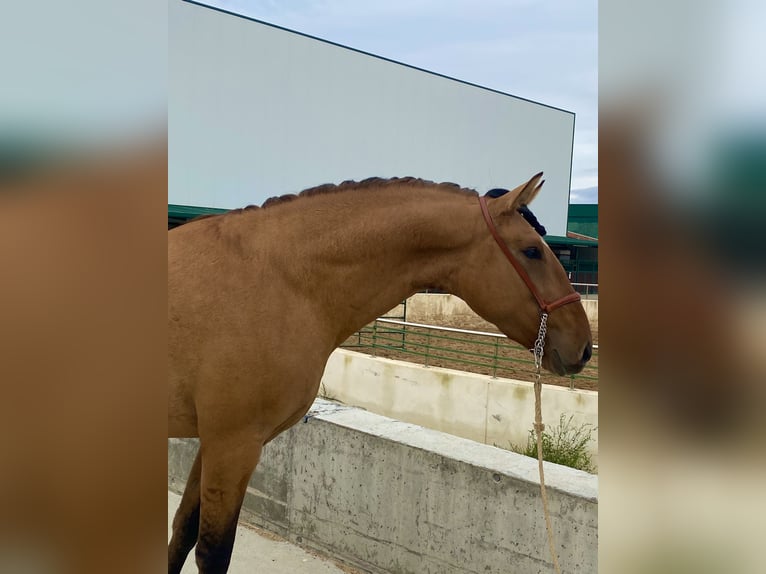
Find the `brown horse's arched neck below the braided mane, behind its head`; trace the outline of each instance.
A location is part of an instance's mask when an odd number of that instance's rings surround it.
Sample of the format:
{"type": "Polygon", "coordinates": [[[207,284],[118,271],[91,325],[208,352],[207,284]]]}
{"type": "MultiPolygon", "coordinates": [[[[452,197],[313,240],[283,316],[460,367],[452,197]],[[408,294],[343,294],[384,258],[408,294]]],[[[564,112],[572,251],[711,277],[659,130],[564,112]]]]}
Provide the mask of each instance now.
{"type": "Polygon", "coordinates": [[[312,278],[336,343],[418,290],[451,291],[480,217],[472,197],[438,190],[338,193],[311,203],[315,215],[295,219],[302,228],[287,233],[291,272],[312,278]]]}

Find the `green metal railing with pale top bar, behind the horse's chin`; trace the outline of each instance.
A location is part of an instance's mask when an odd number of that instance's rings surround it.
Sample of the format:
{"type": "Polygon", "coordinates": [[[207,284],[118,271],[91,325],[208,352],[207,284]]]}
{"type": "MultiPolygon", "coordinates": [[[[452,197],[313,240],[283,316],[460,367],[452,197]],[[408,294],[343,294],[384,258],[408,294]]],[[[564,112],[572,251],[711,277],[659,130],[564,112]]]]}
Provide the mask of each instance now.
{"type": "MultiPolygon", "coordinates": [[[[476,372],[492,377],[533,380],[534,359],[528,349],[499,333],[377,319],[349,337],[343,345],[373,356],[476,372]]],[[[569,377],[569,386],[595,389],[598,345],[583,372],[569,377]]],[[[545,373],[543,382],[560,385],[562,377],[545,373]]]]}

